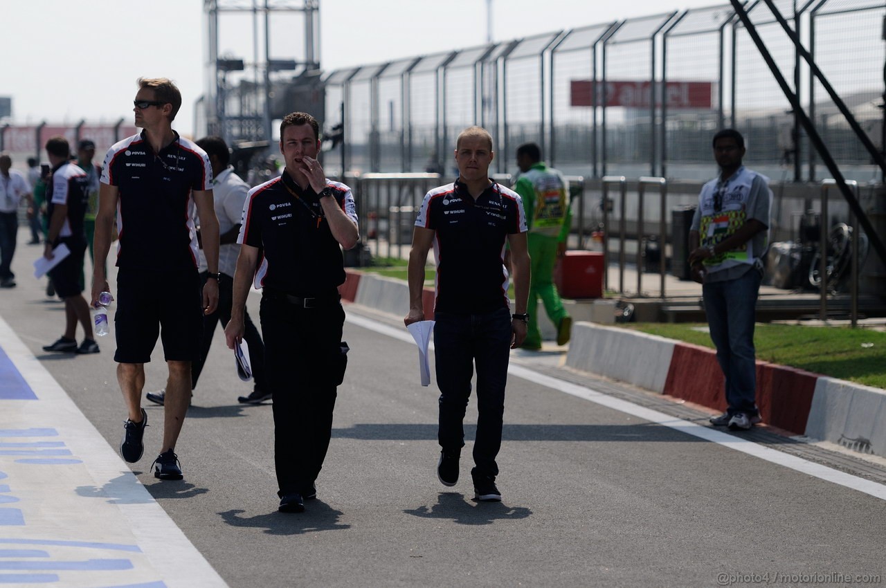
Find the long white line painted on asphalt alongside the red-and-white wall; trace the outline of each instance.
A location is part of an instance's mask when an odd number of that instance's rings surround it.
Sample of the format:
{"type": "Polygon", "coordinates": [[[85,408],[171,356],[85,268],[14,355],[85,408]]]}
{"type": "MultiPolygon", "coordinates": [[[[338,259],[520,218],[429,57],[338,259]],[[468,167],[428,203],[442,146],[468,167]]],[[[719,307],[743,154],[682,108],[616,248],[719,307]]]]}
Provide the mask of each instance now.
{"type": "MultiPolygon", "coordinates": [[[[376,331],[387,337],[399,339],[404,343],[415,344],[415,341],[413,341],[412,336],[409,335],[405,327],[403,329],[394,329],[381,322],[373,321],[362,316],[355,316],[352,313],[346,314],[346,321],[364,329],[376,331]]],[[[432,346],[433,343],[431,343],[431,348],[432,346]]],[[[687,435],[698,437],[705,441],[716,443],[717,445],[723,445],[729,449],[734,449],[737,452],[747,453],[748,455],[769,461],[770,463],[774,463],[784,468],[793,469],[808,476],[817,477],[820,480],[826,480],[834,484],[845,486],[846,488],[851,488],[855,491],[863,492],[874,498],[886,500],[886,485],[878,484],[859,476],[852,476],[851,474],[841,472],[834,468],[828,468],[827,466],[823,466],[813,461],[804,460],[796,455],[783,453],[766,447],[765,445],[759,445],[753,441],[743,439],[742,437],[729,435],[717,429],[703,427],[695,422],[684,421],[673,417],[670,414],[660,413],[657,410],[633,404],[633,402],[607,396],[600,391],[595,391],[586,386],[566,382],[550,375],[540,374],[528,367],[511,363],[508,367],[508,373],[510,375],[516,375],[528,382],[537,383],[554,390],[562,391],[571,396],[589,400],[600,406],[606,406],[607,408],[617,410],[618,412],[631,414],[632,416],[636,416],[645,421],[662,425],[668,429],[678,430],[681,433],[686,433],[687,435]]]]}

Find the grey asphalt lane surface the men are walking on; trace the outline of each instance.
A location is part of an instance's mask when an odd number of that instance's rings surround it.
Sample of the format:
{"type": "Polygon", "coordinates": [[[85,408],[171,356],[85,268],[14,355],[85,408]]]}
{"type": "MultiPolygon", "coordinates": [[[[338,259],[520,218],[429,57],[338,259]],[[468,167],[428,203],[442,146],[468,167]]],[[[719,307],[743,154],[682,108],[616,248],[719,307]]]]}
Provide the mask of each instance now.
{"type": "MultiPolygon", "coordinates": [[[[19,245],[19,286],[0,290],[0,315],[117,447],[125,410],[113,333],[97,355],[42,351],[61,334],[64,313],[28,271],[39,249],[19,245]]],[[[250,297],[256,318],[258,301],[250,297]]],[[[740,436],[705,438],[710,429],[693,424],[701,413],[688,422],[643,418],[620,408],[632,398],[630,406],[661,401],[560,367],[558,354],[514,354],[519,373],[540,377],[509,376],[503,501],[472,499],[473,398],[461,477],[444,487],[435,472],[438,392],[418,383],[415,345],[391,337],[406,334],[398,317],[357,306],[346,313],[349,366],[318,497],[303,514],[276,512],[271,406],[237,403],[251,387],[237,379],[221,329],[176,448],[181,482],[149,471],[162,408],[144,402],[152,426],[132,470],[230,586],[879,585],[886,577],[886,493],[870,481],[886,468],[835,484],[817,464],[806,471],[747,453],[762,445],[740,436]],[[555,381],[567,391],[548,385],[555,381]],[[602,402],[567,393],[575,388],[600,392],[602,402]],[[852,487],[856,480],[868,491],[852,487]]],[[[146,391],[165,385],[159,344],[147,375],[146,391]]]]}

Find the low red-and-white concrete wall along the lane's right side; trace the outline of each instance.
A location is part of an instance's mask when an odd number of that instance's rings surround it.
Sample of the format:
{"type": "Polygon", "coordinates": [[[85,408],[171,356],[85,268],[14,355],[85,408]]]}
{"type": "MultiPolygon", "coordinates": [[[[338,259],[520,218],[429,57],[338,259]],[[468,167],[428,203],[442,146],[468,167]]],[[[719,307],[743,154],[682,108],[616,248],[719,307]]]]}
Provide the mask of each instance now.
{"type": "MultiPolygon", "coordinates": [[[[347,270],[342,298],[378,311],[405,316],[408,285],[402,280],[347,270]]],[[[424,312],[432,317],[433,290],[424,289],[424,312]]],[[[566,365],[582,371],[725,410],[723,375],[716,353],[591,322],[572,326],[566,365]]],[[[763,422],[861,453],[886,457],[886,391],[757,362],[757,404],[763,422]]]]}

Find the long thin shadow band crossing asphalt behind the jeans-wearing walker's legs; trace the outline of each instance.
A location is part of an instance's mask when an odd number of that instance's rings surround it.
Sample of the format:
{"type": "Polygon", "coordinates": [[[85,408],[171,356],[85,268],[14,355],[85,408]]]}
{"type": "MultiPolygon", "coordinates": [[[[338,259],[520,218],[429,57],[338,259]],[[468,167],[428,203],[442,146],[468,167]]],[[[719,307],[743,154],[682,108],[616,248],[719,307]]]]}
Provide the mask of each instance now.
{"type": "MultiPolygon", "coordinates": [[[[465,439],[476,437],[477,425],[465,424],[465,439]]],[[[381,423],[356,424],[348,429],[332,429],[332,437],[365,440],[436,441],[437,424],[381,423]]],[[[635,425],[551,425],[505,424],[502,441],[661,441],[706,443],[653,423],[635,425]]]]}

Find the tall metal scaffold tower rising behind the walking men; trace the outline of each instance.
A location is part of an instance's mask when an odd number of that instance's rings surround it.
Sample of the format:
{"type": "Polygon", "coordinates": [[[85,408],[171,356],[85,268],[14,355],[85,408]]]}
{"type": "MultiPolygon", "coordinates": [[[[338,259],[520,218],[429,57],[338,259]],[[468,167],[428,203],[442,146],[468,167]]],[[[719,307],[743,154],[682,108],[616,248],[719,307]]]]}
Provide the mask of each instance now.
{"type": "Polygon", "coordinates": [[[205,129],[229,144],[270,141],[273,121],[302,110],[323,120],[320,0],[204,0],[205,129]],[[299,27],[300,25],[300,27],[299,27]],[[300,31],[300,34],[299,34],[300,31]],[[299,47],[300,42],[300,47],[299,47]],[[248,54],[252,52],[252,59],[248,54]]]}

